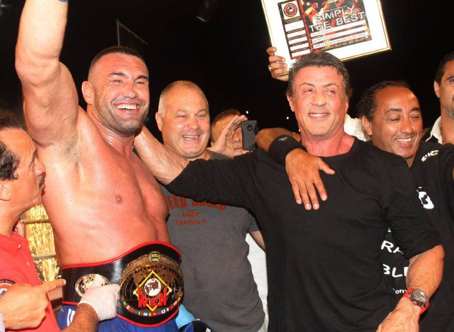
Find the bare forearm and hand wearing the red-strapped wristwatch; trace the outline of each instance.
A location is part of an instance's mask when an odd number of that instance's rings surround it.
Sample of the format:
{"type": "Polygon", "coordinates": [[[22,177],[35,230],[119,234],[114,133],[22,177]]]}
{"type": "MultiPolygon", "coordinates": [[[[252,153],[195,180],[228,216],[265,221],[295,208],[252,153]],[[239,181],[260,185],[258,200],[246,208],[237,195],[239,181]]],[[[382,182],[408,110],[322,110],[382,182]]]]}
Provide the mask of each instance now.
{"type": "MultiPolygon", "coordinates": [[[[430,298],[440,285],[444,257],[445,252],[441,245],[412,257],[407,272],[407,288],[420,289],[430,298]]],[[[430,300],[427,310],[430,310],[430,300]]],[[[409,298],[403,297],[377,331],[419,331],[420,314],[421,308],[412,304],[409,298]]]]}

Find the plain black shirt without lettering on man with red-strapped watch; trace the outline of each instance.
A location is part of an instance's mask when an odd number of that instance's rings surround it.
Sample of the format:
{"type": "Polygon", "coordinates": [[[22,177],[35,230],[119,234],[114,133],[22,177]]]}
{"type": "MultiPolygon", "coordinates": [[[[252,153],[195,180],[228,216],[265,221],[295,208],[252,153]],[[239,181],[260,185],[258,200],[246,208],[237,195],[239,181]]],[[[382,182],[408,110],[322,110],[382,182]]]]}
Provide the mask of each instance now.
{"type": "Polygon", "coordinates": [[[375,331],[393,309],[380,245],[387,228],[407,257],[440,243],[402,158],[355,139],[324,157],[329,199],[298,205],[285,168],[259,150],[196,160],[169,184],[196,200],[251,209],[267,248],[269,331],[375,331]]]}

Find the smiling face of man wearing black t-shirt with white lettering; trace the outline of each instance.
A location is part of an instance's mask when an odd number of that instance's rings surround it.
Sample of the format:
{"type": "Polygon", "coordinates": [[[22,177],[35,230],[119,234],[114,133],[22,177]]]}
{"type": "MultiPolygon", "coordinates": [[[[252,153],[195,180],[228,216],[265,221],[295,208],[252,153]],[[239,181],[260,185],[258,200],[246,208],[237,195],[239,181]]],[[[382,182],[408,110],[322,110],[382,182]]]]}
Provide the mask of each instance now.
{"type": "Polygon", "coordinates": [[[404,87],[388,86],[375,95],[377,110],[363,125],[373,144],[403,157],[409,166],[415,159],[422,137],[422,116],[418,98],[404,87]]]}

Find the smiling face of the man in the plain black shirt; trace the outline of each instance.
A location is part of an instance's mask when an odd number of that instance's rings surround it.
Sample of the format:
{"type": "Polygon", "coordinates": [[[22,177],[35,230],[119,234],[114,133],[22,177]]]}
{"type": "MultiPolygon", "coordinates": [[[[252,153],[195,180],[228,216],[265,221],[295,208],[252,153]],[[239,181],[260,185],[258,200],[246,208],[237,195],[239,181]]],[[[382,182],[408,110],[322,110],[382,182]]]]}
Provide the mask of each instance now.
{"type": "Polygon", "coordinates": [[[344,82],[332,67],[305,67],[298,71],[293,97],[287,96],[301,135],[326,140],[344,128],[349,108],[344,82]]]}

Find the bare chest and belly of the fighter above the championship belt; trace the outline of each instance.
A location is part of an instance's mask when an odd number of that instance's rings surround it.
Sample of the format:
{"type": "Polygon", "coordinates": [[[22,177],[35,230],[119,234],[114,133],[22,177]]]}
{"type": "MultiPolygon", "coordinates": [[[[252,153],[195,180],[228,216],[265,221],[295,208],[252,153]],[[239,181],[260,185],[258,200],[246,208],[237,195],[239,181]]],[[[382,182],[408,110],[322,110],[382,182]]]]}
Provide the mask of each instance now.
{"type": "Polygon", "coordinates": [[[80,109],[72,151],[38,148],[49,165],[43,205],[62,266],[105,261],[147,241],[170,242],[158,183],[131,146],[126,152],[108,143],[111,136],[95,123],[80,109]]]}

